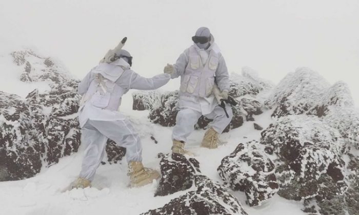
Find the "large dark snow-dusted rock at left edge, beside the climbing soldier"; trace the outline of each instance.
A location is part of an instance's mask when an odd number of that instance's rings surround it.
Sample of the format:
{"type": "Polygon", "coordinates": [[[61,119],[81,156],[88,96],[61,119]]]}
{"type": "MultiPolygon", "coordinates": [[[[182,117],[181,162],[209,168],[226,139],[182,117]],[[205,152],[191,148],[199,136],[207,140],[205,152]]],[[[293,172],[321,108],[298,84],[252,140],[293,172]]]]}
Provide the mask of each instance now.
{"type": "MultiPolygon", "coordinates": [[[[58,158],[76,152],[79,145],[78,120],[72,115],[70,92],[38,94],[31,92],[26,100],[1,93],[0,100],[0,154],[1,167],[7,177],[0,180],[29,178],[42,165],[49,166],[58,158]],[[64,98],[61,96],[64,95],[64,98]],[[65,101],[66,100],[66,101],[65,101]],[[62,111],[59,111],[62,110],[62,111]],[[58,113],[61,116],[58,116],[58,113]]],[[[77,111],[77,110],[76,110],[77,111]]]]}

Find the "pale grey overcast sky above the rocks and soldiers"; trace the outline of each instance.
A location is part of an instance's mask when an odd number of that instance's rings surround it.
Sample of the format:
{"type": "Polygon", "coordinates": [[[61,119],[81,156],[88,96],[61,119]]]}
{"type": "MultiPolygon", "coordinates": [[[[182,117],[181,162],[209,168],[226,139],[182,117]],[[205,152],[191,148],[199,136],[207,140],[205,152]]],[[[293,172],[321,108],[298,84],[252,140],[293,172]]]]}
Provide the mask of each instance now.
{"type": "Polygon", "coordinates": [[[230,72],[249,66],[277,83],[309,67],[331,83],[347,82],[359,104],[358,0],[0,0],[0,41],[55,56],[78,78],[124,36],[132,69],[161,73],[201,26],[230,72]]]}

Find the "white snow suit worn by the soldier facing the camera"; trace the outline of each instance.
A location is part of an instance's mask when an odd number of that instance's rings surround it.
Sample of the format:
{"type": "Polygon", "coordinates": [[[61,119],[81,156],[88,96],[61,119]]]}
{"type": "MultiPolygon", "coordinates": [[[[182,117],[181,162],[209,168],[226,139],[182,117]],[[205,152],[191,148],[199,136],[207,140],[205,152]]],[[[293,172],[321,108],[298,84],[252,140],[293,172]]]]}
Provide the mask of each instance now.
{"type": "Polygon", "coordinates": [[[229,104],[226,110],[218,105],[212,93],[214,80],[221,91],[229,91],[229,74],[226,62],[211,35],[209,48],[200,49],[196,44],[186,49],[177,59],[171,78],[181,76],[179,112],[173,127],[172,140],[187,142],[194,125],[202,115],[213,119],[210,127],[221,134],[233,117],[229,104]]]}

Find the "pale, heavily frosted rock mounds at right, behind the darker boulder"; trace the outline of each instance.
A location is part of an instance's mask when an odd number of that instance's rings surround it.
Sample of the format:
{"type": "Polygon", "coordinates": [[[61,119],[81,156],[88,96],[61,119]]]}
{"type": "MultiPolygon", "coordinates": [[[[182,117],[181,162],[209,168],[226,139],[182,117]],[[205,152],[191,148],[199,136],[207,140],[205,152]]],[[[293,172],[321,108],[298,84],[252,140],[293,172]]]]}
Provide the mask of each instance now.
{"type": "Polygon", "coordinates": [[[314,115],[336,128],[346,143],[359,149],[359,111],[344,82],[331,85],[318,73],[299,68],[289,73],[265,101],[273,117],[314,115]]]}

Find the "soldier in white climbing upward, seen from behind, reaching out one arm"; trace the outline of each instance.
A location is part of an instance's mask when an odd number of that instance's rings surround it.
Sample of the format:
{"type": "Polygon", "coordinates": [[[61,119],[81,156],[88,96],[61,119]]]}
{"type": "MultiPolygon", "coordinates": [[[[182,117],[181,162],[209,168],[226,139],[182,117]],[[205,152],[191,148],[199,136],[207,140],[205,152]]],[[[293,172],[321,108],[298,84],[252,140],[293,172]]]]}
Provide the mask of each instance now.
{"type": "Polygon", "coordinates": [[[83,95],[78,118],[81,142],[86,149],[79,177],[72,183],[72,188],[91,186],[108,139],[126,148],[131,187],[146,185],[160,177],[156,170],[143,166],[141,140],[131,122],[117,110],[122,95],[130,89],[157,89],[169,81],[170,75],[141,77],[130,69],[132,56],[126,50],[112,50],[112,55],[105,58],[78,85],[78,93],[83,95]]]}

